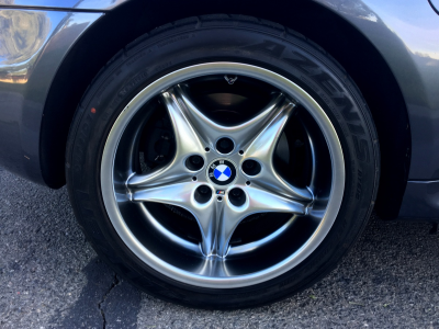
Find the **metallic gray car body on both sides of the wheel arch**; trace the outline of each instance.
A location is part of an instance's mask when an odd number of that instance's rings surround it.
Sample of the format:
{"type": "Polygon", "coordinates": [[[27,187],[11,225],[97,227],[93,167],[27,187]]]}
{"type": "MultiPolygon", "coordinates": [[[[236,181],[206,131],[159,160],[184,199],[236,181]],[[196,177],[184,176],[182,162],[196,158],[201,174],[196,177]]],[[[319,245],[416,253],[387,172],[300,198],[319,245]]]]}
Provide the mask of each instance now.
{"type": "MultiPolygon", "coordinates": [[[[131,1],[135,0],[0,0],[0,166],[50,185],[42,169],[49,92],[72,47],[101,18],[131,1]]],[[[314,3],[365,36],[389,66],[404,98],[412,144],[398,215],[439,220],[438,1],[314,3]]]]}

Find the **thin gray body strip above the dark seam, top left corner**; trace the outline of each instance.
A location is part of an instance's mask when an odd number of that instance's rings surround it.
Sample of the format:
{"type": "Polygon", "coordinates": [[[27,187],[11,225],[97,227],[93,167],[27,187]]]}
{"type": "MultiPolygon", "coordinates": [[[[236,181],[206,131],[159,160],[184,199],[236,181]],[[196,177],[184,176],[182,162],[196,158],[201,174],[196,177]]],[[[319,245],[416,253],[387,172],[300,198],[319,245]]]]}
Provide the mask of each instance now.
{"type": "Polygon", "coordinates": [[[63,8],[82,10],[110,10],[127,0],[0,0],[1,5],[32,8],[63,8]]]}

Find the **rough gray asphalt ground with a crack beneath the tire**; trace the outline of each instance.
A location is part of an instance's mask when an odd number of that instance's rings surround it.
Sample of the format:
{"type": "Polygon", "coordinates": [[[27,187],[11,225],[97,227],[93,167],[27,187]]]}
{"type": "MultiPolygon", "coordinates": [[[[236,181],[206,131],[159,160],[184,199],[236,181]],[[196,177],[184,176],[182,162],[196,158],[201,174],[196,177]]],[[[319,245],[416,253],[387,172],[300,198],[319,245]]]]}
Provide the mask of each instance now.
{"type": "Polygon", "coordinates": [[[439,236],[373,219],[325,280],[271,306],[205,311],[120,280],[79,230],[66,189],[0,168],[0,328],[439,328],[439,236]]]}

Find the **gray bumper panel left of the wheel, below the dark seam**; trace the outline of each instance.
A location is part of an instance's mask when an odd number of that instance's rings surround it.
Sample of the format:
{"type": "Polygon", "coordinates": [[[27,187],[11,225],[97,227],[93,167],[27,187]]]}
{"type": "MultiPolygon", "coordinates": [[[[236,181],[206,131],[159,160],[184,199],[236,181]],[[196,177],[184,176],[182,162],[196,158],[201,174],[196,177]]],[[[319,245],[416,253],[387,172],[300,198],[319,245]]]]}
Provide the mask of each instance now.
{"type": "Polygon", "coordinates": [[[38,152],[47,92],[68,49],[101,15],[0,10],[0,164],[8,170],[44,183],[38,152]]]}

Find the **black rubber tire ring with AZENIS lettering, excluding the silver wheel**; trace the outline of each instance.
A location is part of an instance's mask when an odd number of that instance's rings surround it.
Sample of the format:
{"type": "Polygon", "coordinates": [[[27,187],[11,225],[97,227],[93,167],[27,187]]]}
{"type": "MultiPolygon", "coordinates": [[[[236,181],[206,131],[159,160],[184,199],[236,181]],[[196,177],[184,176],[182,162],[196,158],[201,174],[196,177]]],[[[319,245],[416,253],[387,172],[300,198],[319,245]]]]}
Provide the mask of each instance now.
{"type": "Polygon", "coordinates": [[[225,14],[167,24],[119,52],[92,81],[78,106],[66,155],[70,201],[99,256],[122,277],[148,294],[192,307],[216,309],[279,300],[334,269],[368,222],[376,195],[379,169],[379,143],[371,114],[344,69],[322,48],[284,26],[225,14]],[[305,261],[268,282],[230,290],[182,284],[143,263],[113,229],[100,191],[105,139],[131,98],[176,69],[218,60],[268,68],[314,97],[336,127],[347,174],[338,217],[325,240],[305,261]]]}

